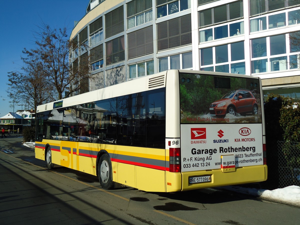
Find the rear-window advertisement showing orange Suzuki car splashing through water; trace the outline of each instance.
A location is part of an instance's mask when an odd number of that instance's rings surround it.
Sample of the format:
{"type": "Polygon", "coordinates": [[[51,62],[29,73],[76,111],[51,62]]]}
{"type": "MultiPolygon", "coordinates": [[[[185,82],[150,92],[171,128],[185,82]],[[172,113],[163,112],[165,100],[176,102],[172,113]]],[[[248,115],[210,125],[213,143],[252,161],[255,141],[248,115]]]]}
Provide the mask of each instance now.
{"type": "Polygon", "coordinates": [[[181,123],[262,123],[259,79],[180,73],[181,123]]]}

